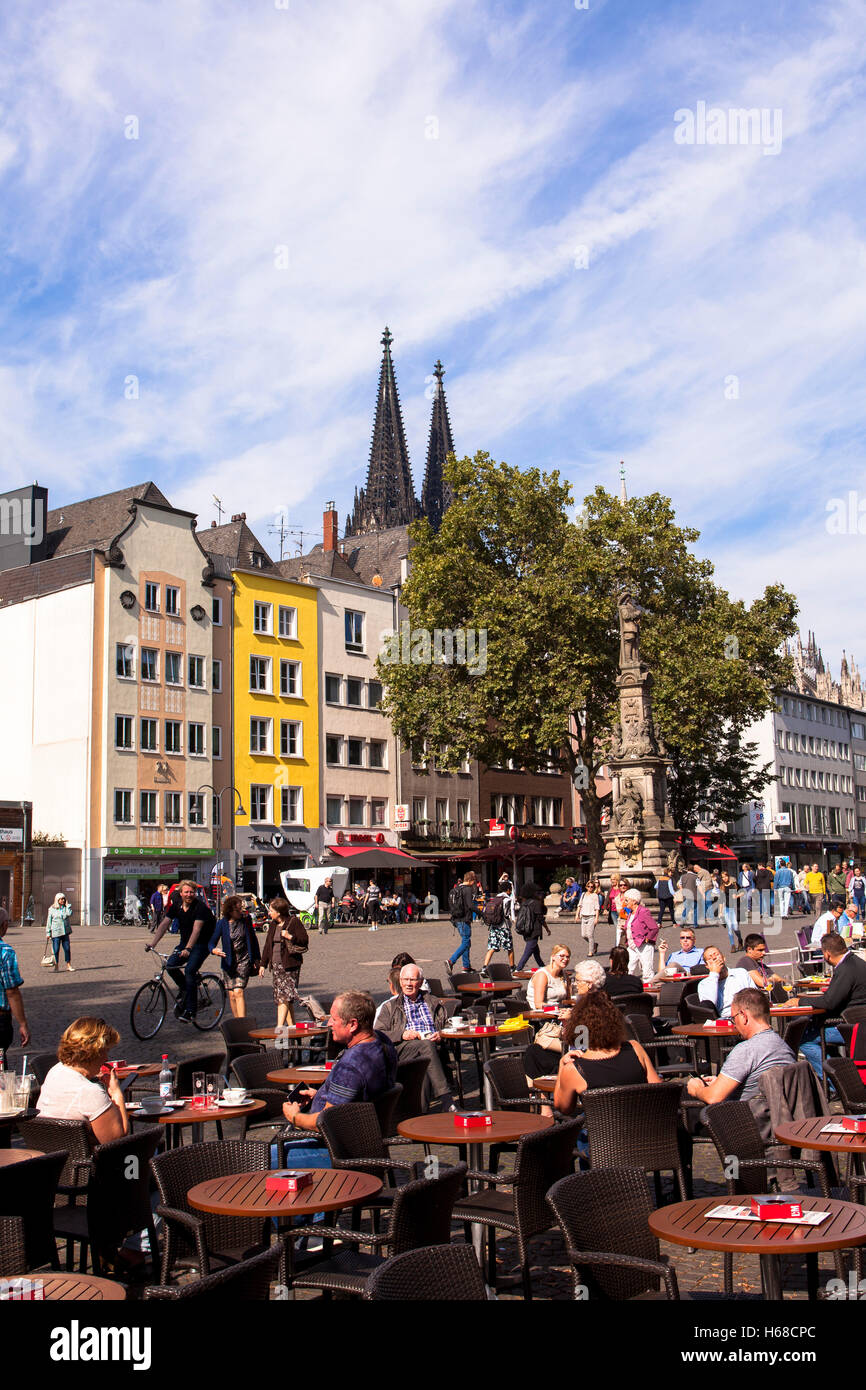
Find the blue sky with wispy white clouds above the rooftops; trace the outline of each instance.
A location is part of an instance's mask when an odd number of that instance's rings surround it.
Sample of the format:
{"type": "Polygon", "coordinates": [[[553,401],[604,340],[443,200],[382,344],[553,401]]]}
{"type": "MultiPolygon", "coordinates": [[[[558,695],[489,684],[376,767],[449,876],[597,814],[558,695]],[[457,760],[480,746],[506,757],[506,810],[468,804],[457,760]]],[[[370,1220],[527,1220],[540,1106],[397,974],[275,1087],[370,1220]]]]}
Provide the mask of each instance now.
{"type": "Polygon", "coordinates": [[[623,457],[735,595],[778,580],[834,671],[866,660],[865,539],[826,528],[866,498],[862,3],[11,0],[0,29],[1,486],[153,478],[318,538],[388,322],[418,491],[442,357],[460,453],[578,499],[623,457]],[[777,153],[677,143],[698,103],[781,113],[777,153]]]}

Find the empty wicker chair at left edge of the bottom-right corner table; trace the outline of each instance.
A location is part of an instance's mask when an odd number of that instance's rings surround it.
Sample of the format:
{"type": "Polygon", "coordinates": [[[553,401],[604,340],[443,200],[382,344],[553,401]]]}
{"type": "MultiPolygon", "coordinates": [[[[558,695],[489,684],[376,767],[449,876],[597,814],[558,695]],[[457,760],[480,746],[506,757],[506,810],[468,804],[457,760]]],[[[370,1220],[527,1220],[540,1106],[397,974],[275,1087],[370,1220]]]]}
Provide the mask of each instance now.
{"type": "Polygon", "coordinates": [[[674,1266],[648,1226],[653,1208],[639,1168],[573,1173],[555,1183],[548,1205],[566,1241],[575,1298],[680,1297],[674,1266]]]}

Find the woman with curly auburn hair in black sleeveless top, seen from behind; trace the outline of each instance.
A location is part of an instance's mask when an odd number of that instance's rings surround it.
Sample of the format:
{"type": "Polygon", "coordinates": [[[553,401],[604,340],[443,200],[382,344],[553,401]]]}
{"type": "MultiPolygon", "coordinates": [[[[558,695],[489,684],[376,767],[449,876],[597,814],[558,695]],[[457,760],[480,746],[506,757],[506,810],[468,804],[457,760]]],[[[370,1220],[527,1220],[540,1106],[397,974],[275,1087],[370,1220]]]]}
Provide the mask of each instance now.
{"type": "Polygon", "coordinates": [[[553,1091],[563,1115],[574,1115],[584,1091],[662,1080],[641,1044],[626,1037],[626,1020],[603,990],[577,1001],[563,1027],[563,1048],[553,1091]]]}

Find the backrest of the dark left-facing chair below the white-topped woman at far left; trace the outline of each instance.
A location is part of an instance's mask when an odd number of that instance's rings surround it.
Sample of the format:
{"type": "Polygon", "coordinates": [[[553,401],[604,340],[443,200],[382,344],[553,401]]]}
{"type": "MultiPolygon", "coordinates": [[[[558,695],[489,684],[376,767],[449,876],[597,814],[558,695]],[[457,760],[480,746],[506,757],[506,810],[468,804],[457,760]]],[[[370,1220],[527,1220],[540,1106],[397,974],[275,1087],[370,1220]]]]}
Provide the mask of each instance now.
{"type": "MultiPolygon", "coordinates": [[[[97,1144],[88,1184],[88,1232],[100,1254],[111,1254],[152,1220],[150,1159],[163,1143],[158,1125],[97,1144]]],[[[217,1148],[220,1145],[215,1145],[217,1148]]]]}

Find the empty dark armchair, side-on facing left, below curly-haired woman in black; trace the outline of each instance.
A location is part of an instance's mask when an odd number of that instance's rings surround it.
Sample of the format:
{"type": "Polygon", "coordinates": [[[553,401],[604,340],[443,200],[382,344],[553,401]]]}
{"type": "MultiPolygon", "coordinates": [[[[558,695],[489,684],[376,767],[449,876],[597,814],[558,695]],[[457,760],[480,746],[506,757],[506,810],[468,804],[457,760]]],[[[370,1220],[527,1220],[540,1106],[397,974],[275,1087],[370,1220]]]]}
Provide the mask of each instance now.
{"type": "Polygon", "coordinates": [[[574,1145],[581,1131],[580,1120],[566,1120],[535,1134],[524,1134],[517,1144],[514,1170],[499,1177],[477,1173],[470,1177],[487,1188],[470,1193],[455,1207],[455,1219],[477,1222],[488,1229],[488,1283],[496,1287],[496,1229],[517,1237],[524,1298],[532,1297],[530,1241],[550,1229],[545,1193],[574,1168],[574,1145]],[[503,1191],[503,1188],[510,1191],[503,1191]]]}

